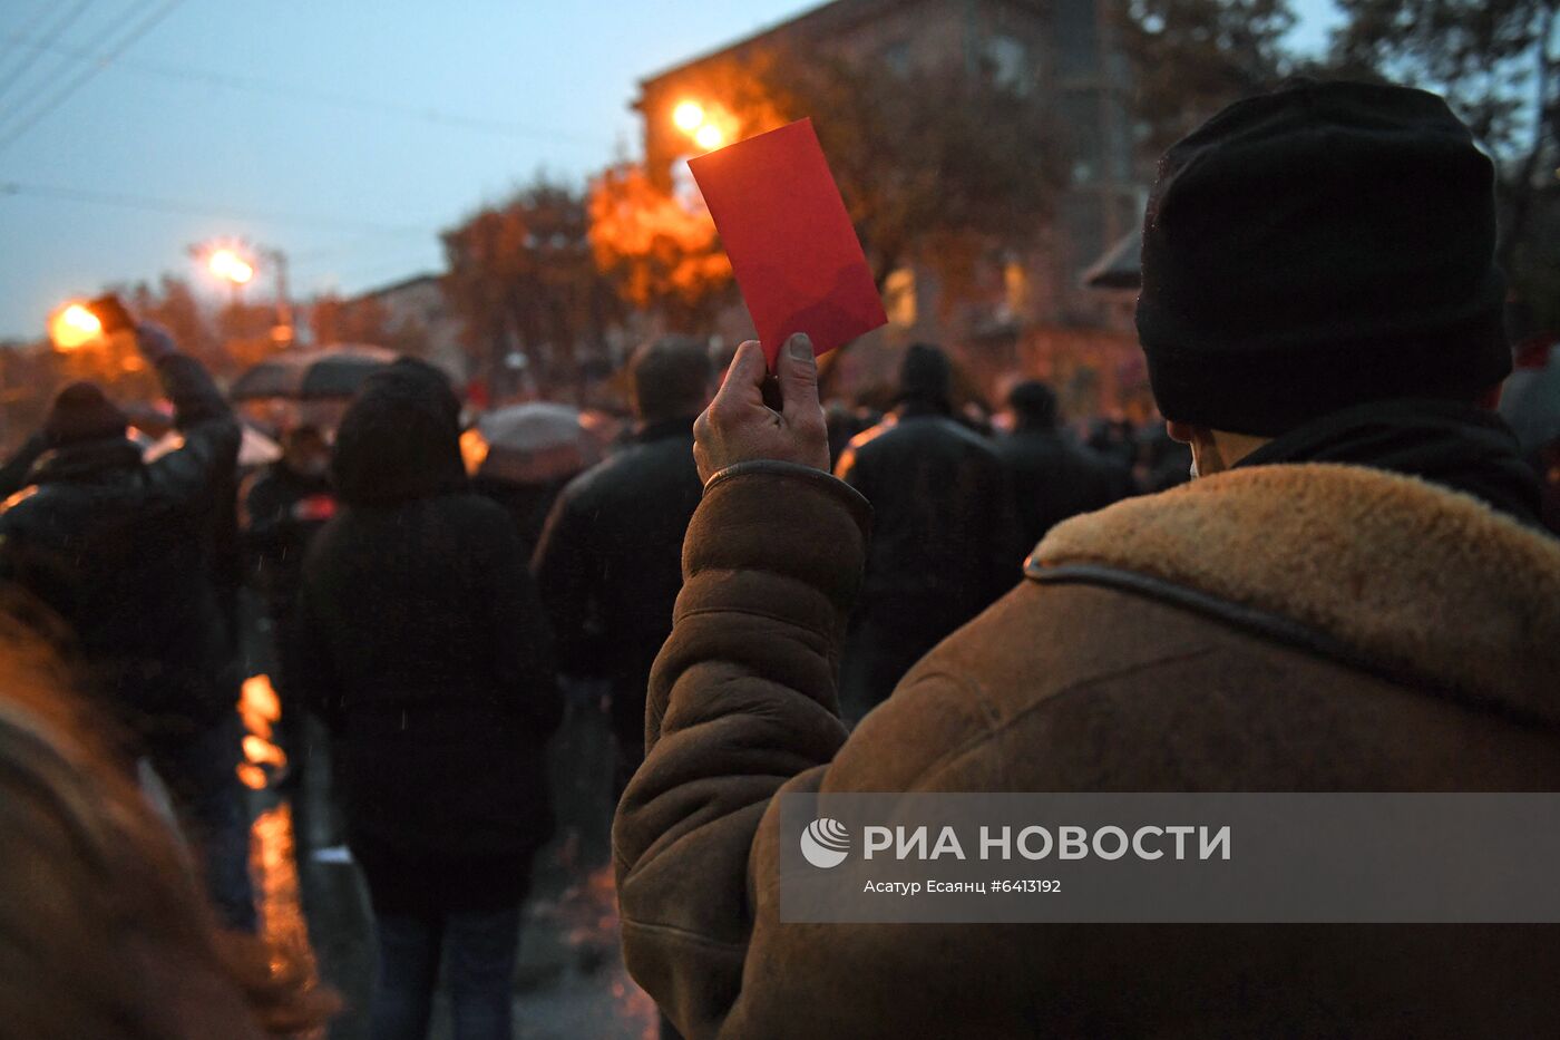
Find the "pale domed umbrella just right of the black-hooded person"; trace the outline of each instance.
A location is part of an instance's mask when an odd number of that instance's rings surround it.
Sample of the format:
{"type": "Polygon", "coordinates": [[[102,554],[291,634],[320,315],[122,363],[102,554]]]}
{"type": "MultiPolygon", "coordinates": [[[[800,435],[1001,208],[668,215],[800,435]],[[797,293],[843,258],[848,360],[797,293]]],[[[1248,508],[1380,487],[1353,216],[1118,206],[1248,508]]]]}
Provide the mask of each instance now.
{"type": "Polygon", "coordinates": [[[597,417],[568,404],[527,401],[488,412],[460,437],[473,476],[546,484],[574,476],[607,454],[597,417]]]}

